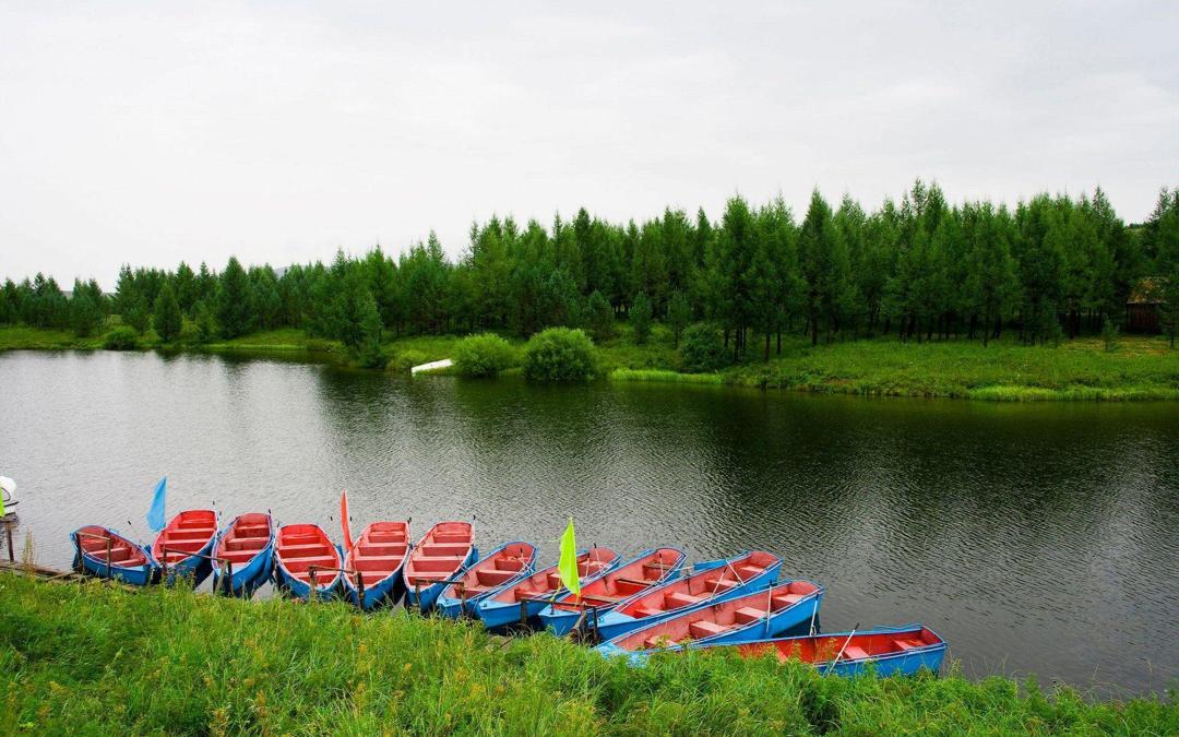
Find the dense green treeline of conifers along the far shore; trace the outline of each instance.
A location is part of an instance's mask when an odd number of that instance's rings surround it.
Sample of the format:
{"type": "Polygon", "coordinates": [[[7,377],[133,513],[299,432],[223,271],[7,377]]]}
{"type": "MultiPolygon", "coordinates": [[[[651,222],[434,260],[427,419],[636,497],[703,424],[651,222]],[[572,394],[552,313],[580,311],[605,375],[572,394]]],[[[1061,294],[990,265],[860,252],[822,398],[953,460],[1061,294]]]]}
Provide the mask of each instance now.
{"type": "Polygon", "coordinates": [[[801,222],[780,199],[755,208],[742,197],[719,222],[671,209],[625,225],[584,209],[547,229],[492,218],[472,226],[456,262],[430,233],[397,258],[377,248],[281,271],[236,258],[220,272],[124,266],[111,298],[75,282],[67,301],[38,275],[5,283],[0,321],[85,331],[114,312],[144,331],[174,312],[205,338],[294,327],[356,351],[378,344],[382,330],[531,335],[568,325],[604,338],[627,317],[640,340],[652,318],[678,340],[689,323],[709,321],[739,360],[751,341],[763,357],[780,350],[784,333],[812,343],[875,335],[986,343],[1005,330],[1026,342],[1074,337],[1119,323],[1144,278],[1161,292],[1173,334],[1179,191],[1162,190],[1150,221],[1127,226],[1100,189],[1009,209],[951,205],[918,180],[874,212],[850,197],[832,206],[816,191],[801,222]]]}

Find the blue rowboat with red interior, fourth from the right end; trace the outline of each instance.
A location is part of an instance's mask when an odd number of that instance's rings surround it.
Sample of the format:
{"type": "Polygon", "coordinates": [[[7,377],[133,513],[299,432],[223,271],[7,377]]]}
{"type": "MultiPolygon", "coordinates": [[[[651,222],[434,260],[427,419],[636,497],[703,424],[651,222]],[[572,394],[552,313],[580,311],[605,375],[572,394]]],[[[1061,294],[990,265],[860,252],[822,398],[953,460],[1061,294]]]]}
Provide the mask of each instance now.
{"type": "Polygon", "coordinates": [[[677,578],[686,558],[684,551],[674,547],[644,551],[584,586],[579,595],[565,592],[536,616],[555,634],[567,634],[578,623],[592,626],[594,618],[652,586],[677,578]]]}

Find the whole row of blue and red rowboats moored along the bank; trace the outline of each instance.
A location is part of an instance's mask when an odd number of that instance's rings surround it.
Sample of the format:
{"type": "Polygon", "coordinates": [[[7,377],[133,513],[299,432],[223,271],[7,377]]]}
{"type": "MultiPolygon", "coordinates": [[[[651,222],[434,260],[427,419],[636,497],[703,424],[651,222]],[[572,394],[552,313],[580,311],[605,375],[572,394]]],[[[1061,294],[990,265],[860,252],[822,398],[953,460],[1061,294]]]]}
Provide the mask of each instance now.
{"type": "Polygon", "coordinates": [[[678,548],[624,559],[595,546],[578,552],[581,591],[573,594],[555,564],[538,568],[534,545],[507,542],[480,557],[472,526],[459,521],[439,522],[417,541],[408,522],[373,522],[349,550],[317,525],[279,527],[263,513],[219,528],[212,509],[180,512],[150,547],[97,525],[71,538],[75,568],[126,584],[183,577],[198,586],[211,575],[215,591],[235,597],[274,581],[291,597],[343,598],[363,610],[404,600],[422,612],[477,618],[493,631],[578,632],[599,651],[634,660],[723,646],[835,673],[871,664],[889,675],[937,672],[946,656],[946,643],[921,625],[817,634],[823,587],[779,581],[782,559],[763,551],[690,566],[678,548]],[[808,633],[784,637],[799,630],[808,633]]]}

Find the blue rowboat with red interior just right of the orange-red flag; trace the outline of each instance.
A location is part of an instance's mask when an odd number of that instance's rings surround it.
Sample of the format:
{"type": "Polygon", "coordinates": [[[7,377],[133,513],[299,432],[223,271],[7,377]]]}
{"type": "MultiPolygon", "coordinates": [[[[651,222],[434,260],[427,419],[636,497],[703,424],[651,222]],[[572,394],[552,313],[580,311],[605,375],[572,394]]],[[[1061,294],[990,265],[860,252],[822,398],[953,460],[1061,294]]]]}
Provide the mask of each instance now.
{"type": "Polygon", "coordinates": [[[414,547],[409,522],[373,522],[344,558],[344,595],[364,611],[391,606],[406,593],[401,568],[414,547]],[[357,580],[364,584],[364,599],[357,580]]]}

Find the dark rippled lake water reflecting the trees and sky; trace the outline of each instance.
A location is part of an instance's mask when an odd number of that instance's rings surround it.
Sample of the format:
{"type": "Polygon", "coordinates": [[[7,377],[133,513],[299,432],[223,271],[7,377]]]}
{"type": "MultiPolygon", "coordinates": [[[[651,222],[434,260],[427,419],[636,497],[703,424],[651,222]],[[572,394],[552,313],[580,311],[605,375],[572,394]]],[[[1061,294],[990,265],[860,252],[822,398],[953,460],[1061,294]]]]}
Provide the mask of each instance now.
{"type": "Polygon", "coordinates": [[[18,546],[216,501],[338,537],[475,519],[480,546],[750,548],[826,587],[824,631],[920,620],[966,675],[1107,696],[1179,678],[1179,406],[865,400],[394,379],[275,357],[0,354],[18,546]],[[336,522],[329,521],[336,516],[336,522]]]}

